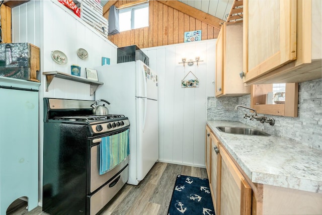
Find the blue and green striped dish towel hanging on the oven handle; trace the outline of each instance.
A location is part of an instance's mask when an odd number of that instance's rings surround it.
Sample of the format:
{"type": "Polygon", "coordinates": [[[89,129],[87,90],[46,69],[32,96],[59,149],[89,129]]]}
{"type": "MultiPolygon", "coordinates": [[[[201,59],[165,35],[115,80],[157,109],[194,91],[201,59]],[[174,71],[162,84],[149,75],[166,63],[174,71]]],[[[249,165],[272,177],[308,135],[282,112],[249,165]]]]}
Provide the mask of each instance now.
{"type": "Polygon", "coordinates": [[[103,137],[100,144],[100,175],[113,169],[129,154],[129,129],[103,137]]]}

